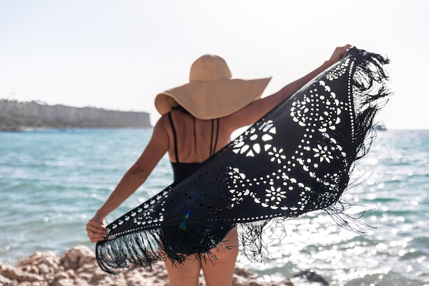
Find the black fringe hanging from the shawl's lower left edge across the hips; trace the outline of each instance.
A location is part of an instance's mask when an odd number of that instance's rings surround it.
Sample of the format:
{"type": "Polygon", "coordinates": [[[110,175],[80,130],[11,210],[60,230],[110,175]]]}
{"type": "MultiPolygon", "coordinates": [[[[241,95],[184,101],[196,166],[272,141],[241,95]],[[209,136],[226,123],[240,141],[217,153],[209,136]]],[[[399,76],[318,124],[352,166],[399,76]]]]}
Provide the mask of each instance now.
{"type": "Polygon", "coordinates": [[[131,267],[151,269],[156,261],[169,259],[173,265],[180,266],[189,255],[195,259],[212,261],[217,259],[213,249],[223,241],[236,224],[188,224],[186,229],[180,226],[141,230],[122,237],[99,241],[95,246],[95,255],[99,267],[108,274],[118,274],[117,270],[131,267]]]}

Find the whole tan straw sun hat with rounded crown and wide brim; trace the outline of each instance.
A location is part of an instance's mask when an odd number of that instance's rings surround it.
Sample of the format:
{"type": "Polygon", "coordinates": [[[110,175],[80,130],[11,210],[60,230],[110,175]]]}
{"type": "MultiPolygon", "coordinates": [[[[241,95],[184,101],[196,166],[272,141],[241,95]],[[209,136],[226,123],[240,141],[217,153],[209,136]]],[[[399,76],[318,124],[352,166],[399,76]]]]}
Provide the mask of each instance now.
{"type": "Polygon", "coordinates": [[[161,114],[180,105],[199,119],[224,117],[260,98],[270,80],[233,79],[223,58],[204,55],[193,62],[189,83],[156,95],[155,106],[161,114]]]}

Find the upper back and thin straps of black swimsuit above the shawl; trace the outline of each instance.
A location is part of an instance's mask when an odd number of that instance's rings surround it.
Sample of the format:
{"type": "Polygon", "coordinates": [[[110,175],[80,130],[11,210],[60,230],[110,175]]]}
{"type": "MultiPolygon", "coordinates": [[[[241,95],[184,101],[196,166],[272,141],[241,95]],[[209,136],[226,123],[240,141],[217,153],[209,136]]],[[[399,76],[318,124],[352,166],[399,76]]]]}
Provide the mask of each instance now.
{"type": "MultiPolygon", "coordinates": [[[[169,120],[171,129],[173,129],[173,138],[174,138],[174,154],[175,154],[175,162],[171,162],[171,167],[173,167],[173,175],[175,181],[182,181],[184,178],[190,176],[193,174],[194,171],[197,171],[199,167],[201,167],[202,163],[182,163],[179,161],[179,154],[177,153],[177,135],[174,128],[173,119],[171,117],[171,112],[169,112],[169,120]]],[[[194,130],[195,130],[195,118],[194,118],[194,130]]],[[[217,140],[219,136],[219,119],[212,119],[212,137],[210,139],[210,153],[209,155],[212,156],[212,154],[215,154],[216,146],[217,146],[217,140]],[[215,132],[215,126],[216,126],[216,132],[215,132]],[[215,140],[213,140],[215,139],[215,140]],[[214,143],[214,145],[213,145],[214,143]]],[[[196,134],[194,132],[194,140],[196,141],[196,134]]]]}

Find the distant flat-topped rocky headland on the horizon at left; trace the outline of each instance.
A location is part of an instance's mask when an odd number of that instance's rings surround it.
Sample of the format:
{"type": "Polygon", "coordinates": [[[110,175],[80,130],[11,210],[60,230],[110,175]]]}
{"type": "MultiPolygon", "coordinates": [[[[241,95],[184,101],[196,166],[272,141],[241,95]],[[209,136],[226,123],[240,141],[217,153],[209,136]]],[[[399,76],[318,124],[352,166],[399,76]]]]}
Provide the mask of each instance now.
{"type": "Polygon", "coordinates": [[[149,113],[0,99],[0,131],[68,128],[149,128],[149,113]]]}

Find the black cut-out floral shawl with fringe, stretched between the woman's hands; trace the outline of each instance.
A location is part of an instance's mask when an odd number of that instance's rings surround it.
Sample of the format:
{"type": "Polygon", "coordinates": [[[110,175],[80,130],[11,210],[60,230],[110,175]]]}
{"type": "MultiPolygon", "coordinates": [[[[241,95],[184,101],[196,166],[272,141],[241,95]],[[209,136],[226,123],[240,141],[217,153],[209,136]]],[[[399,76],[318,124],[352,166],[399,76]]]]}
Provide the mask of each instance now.
{"type": "Polygon", "coordinates": [[[341,194],[364,156],[376,112],[390,94],[380,55],[356,48],[278,104],[197,171],[108,225],[97,243],[108,273],[215,257],[238,226],[249,259],[264,256],[268,222],[325,210],[343,226],[341,194]],[[219,244],[220,243],[220,244],[219,244]]]}

